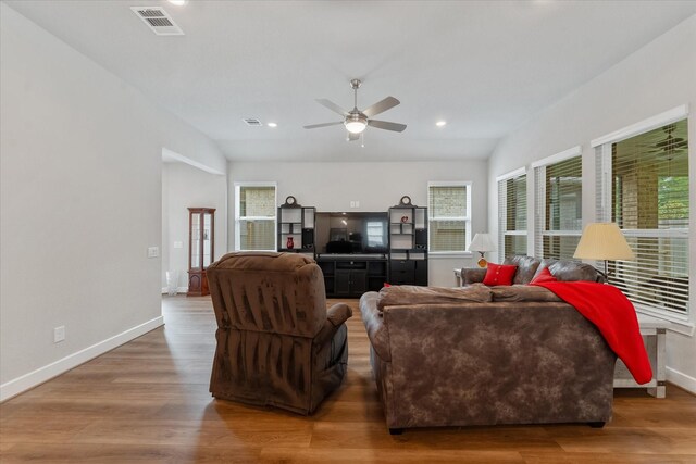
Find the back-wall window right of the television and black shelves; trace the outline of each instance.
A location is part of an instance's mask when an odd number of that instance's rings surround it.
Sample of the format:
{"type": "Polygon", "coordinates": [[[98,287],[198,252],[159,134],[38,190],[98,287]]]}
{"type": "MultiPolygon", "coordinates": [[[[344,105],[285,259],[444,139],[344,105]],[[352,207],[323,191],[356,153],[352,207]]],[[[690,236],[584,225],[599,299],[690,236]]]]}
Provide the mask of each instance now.
{"type": "Polygon", "coordinates": [[[465,251],[471,240],[471,185],[469,183],[430,183],[428,250],[465,251]]]}

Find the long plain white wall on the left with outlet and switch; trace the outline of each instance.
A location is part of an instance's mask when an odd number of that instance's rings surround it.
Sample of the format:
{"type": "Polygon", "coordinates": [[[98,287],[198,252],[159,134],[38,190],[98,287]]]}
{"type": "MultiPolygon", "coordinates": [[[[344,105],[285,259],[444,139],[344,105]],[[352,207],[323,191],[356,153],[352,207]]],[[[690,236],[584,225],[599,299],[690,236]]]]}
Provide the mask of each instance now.
{"type": "Polygon", "coordinates": [[[162,148],[226,162],[4,3],[0,21],[1,400],[162,323],[162,148]]]}

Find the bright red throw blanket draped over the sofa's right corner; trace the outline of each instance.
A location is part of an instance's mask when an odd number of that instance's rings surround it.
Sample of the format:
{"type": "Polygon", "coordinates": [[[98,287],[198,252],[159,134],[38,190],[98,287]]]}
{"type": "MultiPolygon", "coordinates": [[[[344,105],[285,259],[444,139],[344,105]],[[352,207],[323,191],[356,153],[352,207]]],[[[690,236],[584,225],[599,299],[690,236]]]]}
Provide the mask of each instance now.
{"type": "Polygon", "coordinates": [[[638,384],[652,379],[633,303],[617,287],[594,281],[533,284],[556,293],[592,322],[638,384]]]}

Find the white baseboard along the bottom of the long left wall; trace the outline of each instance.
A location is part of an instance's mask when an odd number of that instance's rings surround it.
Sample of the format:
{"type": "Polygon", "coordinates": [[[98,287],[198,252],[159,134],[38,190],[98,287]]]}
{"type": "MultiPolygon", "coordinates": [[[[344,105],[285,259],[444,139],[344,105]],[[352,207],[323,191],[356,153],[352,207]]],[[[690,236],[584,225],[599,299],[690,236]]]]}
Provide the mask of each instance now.
{"type": "Polygon", "coordinates": [[[105,353],[107,351],[113,350],[114,348],[120,347],[123,343],[138,338],[141,335],[147,334],[148,331],[153,330],[162,325],[164,325],[164,317],[156,317],[136,327],[129,328],[126,331],[100,341],[99,343],[92,344],[91,347],[70,354],[62,360],[58,360],[44,367],[39,367],[34,372],[2,384],[0,385],[0,403],[9,400],[12,397],[16,397],[17,394],[30,388],[36,387],[37,385],[44,384],[45,381],[50,380],[51,378],[57,377],[74,367],[77,367],[78,365],[86,363],[87,361],[92,360],[100,354],[105,353]]]}

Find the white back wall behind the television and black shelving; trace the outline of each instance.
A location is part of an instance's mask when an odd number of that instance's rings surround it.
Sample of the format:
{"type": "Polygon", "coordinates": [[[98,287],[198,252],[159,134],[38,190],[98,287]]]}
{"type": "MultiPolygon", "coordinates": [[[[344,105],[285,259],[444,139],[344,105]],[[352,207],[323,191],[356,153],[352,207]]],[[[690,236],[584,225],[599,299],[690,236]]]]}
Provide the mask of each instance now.
{"type": "MultiPolygon", "coordinates": [[[[340,141],[338,141],[340,142],[340,141]]],[[[234,248],[234,206],[236,181],[276,181],[277,202],[289,195],[298,203],[316,211],[387,211],[408,195],[413,204],[427,205],[428,180],[470,180],[472,183],[472,237],[488,223],[486,161],[406,163],[249,163],[232,162],[227,173],[229,188],[229,249],[234,248]],[[359,201],[360,208],[350,208],[359,201]]],[[[470,254],[430,255],[431,285],[455,285],[455,267],[471,266],[470,254]]]]}

